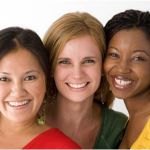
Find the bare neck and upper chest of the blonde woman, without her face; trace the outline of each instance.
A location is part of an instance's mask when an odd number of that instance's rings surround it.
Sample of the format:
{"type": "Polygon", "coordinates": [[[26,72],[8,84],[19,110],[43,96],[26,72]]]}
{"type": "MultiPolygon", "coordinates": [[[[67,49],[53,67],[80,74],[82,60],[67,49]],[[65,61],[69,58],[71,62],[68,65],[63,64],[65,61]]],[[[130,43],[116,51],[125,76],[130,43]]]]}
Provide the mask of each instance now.
{"type": "MultiPolygon", "coordinates": [[[[60,101],[57,101],[57,103],[60,103],[60,101]]],[[[82,148],[93,148],[98,130],[100,130],[100,106],[93,104],[93,108],[87,112],[84,104],[84,110],[82,106],[77,106],[76,110],[71,110],[71,108],[67,109],[67,105],[70,104],[60,103],[59,105],[52,104],[49,107],[51,112],[48,114],[47,123],[62,130],[82,148]],[[59,109],[59,105],[63,108],[59,109]]],[[[74,106],[69,107],[73,108],[74,106]]]]}

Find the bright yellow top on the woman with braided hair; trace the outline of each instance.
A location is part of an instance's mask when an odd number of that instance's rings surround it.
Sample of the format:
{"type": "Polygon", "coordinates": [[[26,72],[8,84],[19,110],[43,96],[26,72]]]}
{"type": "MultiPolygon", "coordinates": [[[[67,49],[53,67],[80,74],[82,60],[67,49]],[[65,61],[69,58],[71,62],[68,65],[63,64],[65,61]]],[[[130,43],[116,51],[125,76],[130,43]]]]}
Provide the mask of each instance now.
{"type": "Polygon", "coordinates": [[[131,149],[150,149],[150,119],[137,140],[132,144],[131,149]]]}

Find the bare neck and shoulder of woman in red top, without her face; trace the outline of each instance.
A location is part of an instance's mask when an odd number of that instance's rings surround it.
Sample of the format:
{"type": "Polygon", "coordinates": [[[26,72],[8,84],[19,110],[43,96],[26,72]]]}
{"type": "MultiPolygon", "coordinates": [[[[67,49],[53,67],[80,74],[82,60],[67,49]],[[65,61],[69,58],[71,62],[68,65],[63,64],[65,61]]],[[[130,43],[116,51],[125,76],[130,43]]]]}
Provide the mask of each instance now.
{"type": "Polygon", "coordinates": [[[1,125],[0,148],[23,148],[27,143],[29,143],[29,141],[31,141],[34,137],[44,132],[48,128],[49,127],[46,125],[38,125],[37,123],[35,123],[35,121],[31,122],[30,124],[21,124],[18,126],[12,123],[9,124],[9,128],[8,125],[5,125],[5,127],[1,125]]]}

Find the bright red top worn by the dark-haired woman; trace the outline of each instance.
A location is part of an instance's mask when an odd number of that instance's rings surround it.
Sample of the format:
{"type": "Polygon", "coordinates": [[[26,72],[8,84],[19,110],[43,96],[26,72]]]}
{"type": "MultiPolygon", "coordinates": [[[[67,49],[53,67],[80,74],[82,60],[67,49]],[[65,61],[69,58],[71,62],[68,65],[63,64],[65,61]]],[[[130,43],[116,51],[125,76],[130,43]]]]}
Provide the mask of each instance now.
{"type": "Polygon", "coordinates": [[[32,139],[23,149],[80,149],[80,146],[57,128],[51,128],[32,139]]]}

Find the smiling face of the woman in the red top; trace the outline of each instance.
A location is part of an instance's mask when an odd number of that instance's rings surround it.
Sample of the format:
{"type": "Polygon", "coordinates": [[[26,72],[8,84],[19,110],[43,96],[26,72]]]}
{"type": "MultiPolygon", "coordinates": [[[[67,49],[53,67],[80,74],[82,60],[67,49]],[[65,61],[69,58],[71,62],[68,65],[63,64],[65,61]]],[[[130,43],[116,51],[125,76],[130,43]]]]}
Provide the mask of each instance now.
{"type": "Polygon", "coordinates": [[[37,58],[25,49],[0,60],[0,112],[14,122],[33,119],[46,91],[45,75],[37,58]]]}

